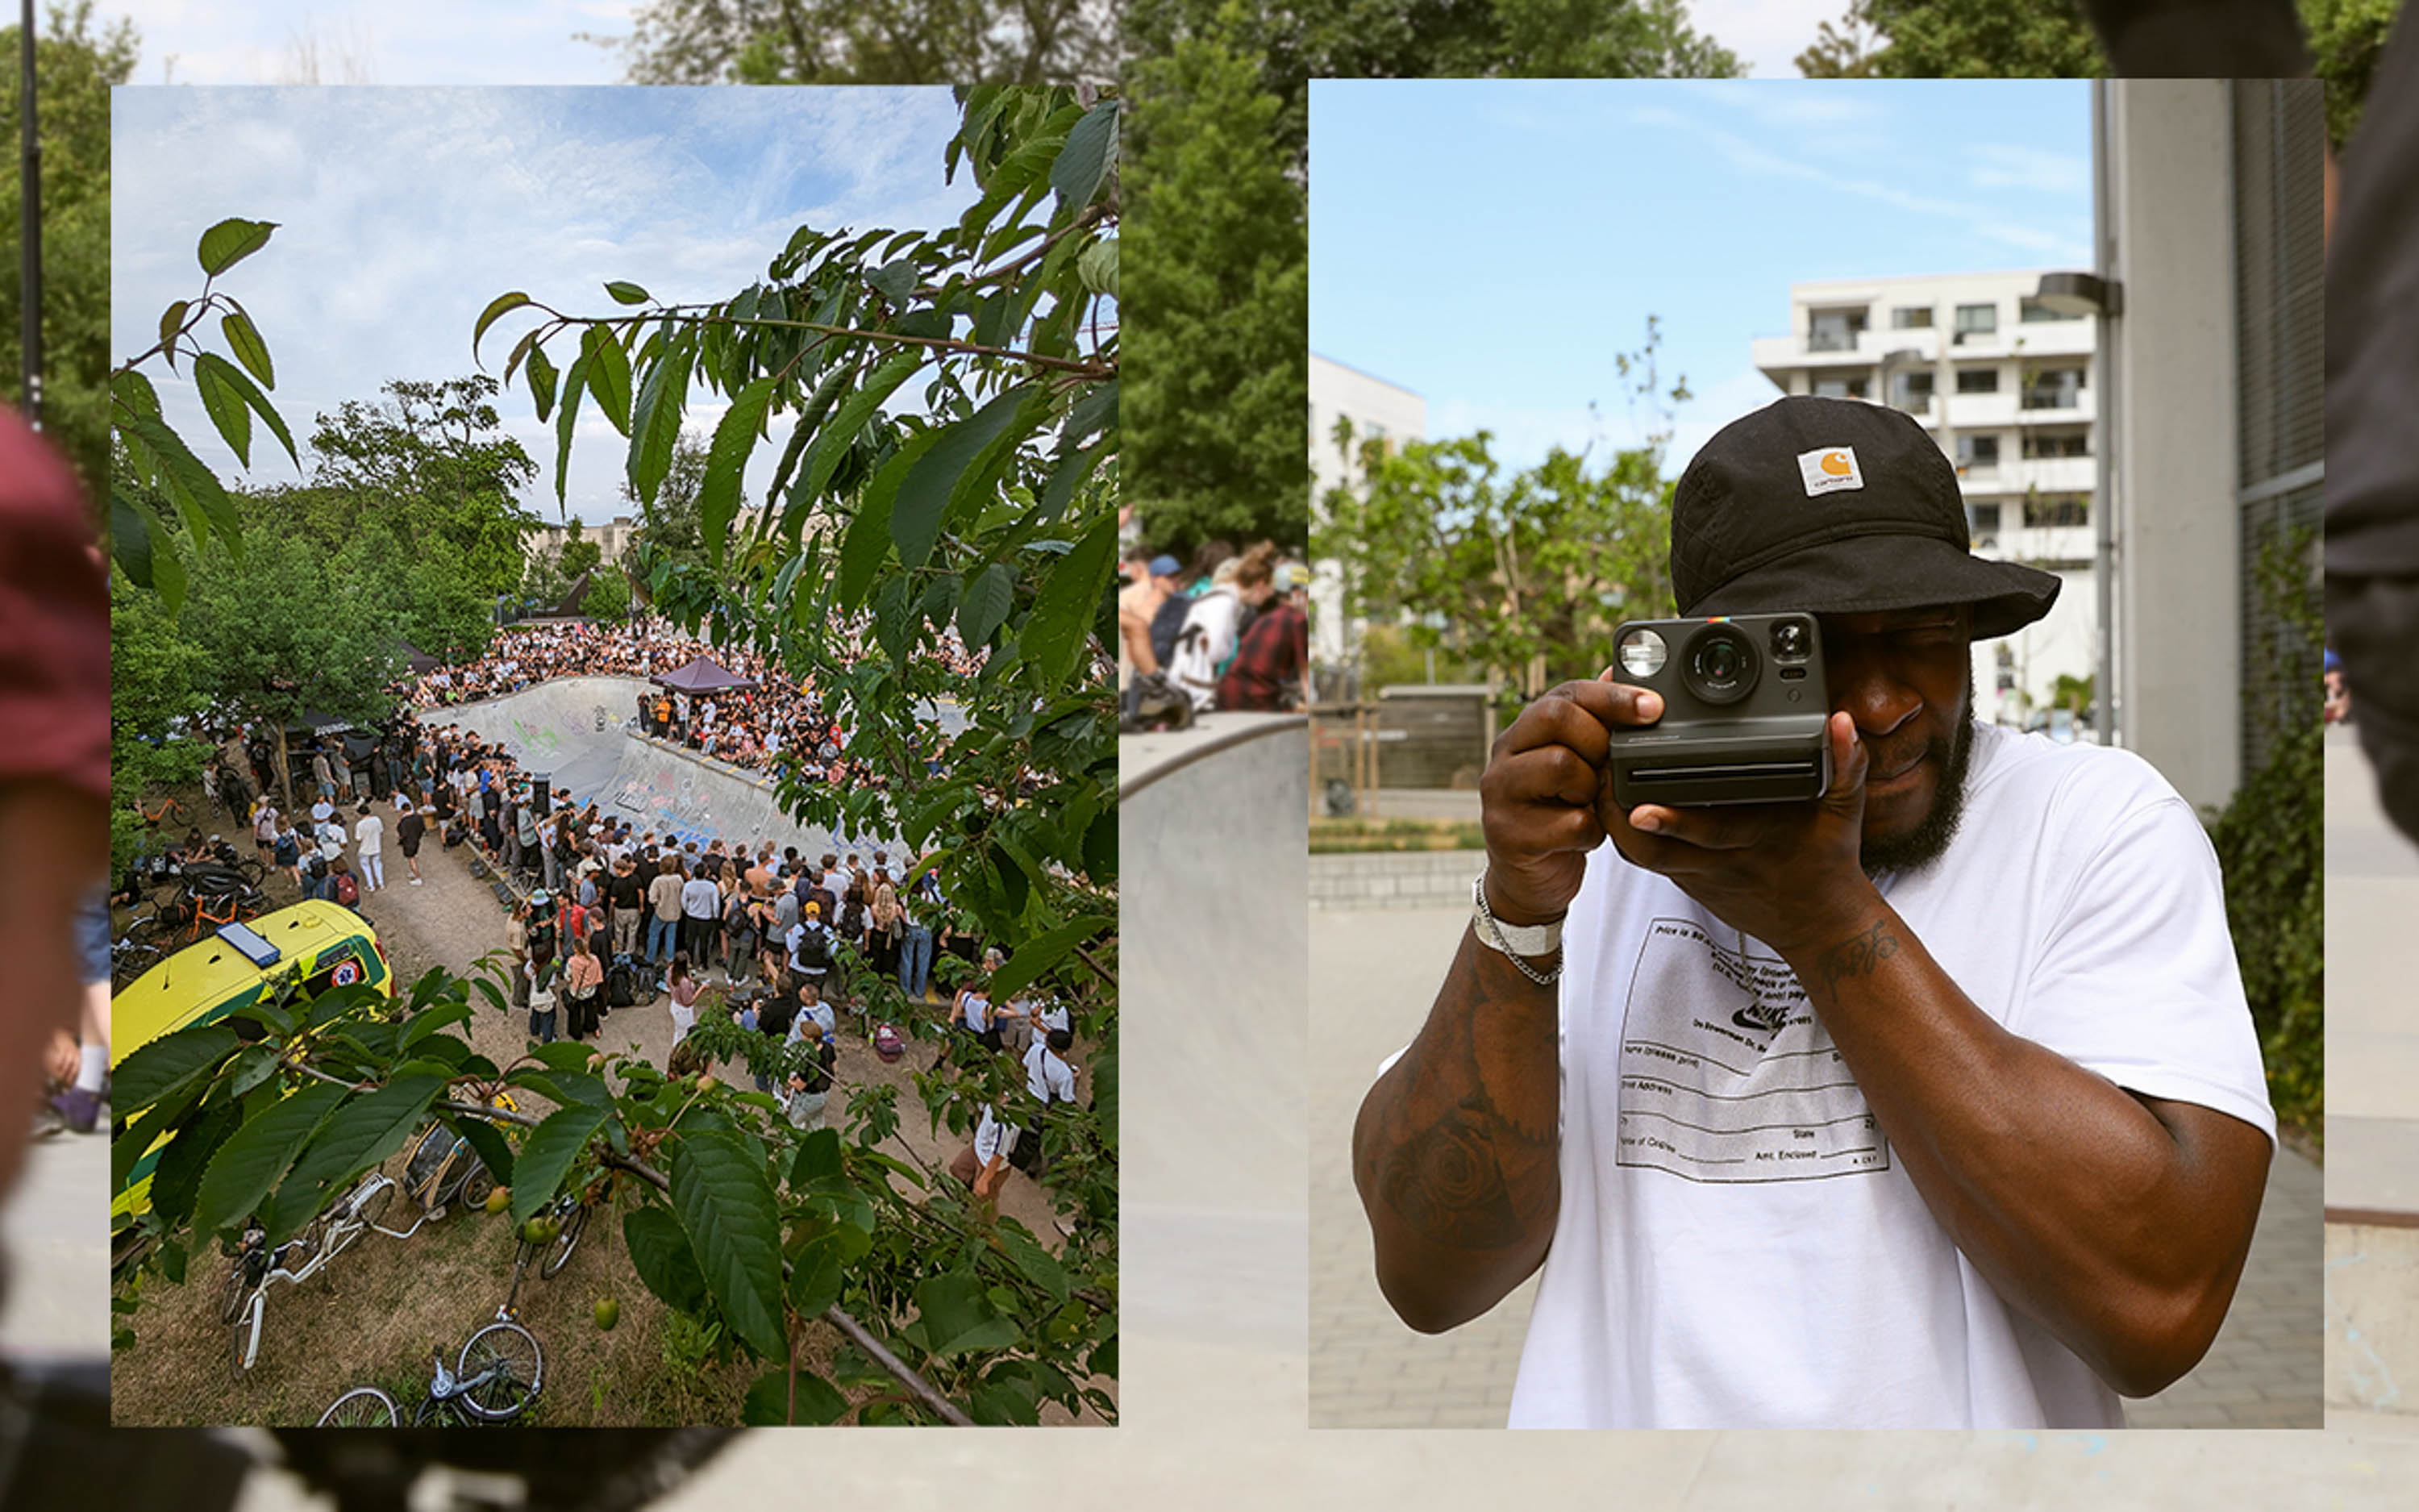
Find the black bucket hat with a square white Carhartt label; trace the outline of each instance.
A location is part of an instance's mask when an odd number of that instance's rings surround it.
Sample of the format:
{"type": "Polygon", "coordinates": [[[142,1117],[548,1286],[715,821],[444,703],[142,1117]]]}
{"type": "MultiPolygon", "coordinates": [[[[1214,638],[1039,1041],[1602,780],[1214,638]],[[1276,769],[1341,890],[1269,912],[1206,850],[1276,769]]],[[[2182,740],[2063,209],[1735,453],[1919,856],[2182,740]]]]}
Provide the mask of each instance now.
{"type": "Polygon", "coordinates": [[[1940,445],[1863,399],[1792,394],[1722,426],[1672,498],[1672,593],[1686,617],[1962,602],[1981,641],[2046,614],[2059,585],[1974,556],[1940,445]]]}

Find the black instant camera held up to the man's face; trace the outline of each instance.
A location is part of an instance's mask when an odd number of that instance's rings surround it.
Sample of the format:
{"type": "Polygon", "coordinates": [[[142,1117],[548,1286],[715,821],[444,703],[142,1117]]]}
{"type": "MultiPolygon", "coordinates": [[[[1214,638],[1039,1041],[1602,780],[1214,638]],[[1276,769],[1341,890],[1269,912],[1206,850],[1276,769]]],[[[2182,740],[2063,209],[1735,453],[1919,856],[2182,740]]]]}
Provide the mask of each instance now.
{"type": "Polygon", "coordinates": [[[1613,682],[1652,687],[1664,714],[1613,726],[1613,803],[1788,803],[1831,786],[1831,697],[1812,614],[1630,619],[1613,682]]]}

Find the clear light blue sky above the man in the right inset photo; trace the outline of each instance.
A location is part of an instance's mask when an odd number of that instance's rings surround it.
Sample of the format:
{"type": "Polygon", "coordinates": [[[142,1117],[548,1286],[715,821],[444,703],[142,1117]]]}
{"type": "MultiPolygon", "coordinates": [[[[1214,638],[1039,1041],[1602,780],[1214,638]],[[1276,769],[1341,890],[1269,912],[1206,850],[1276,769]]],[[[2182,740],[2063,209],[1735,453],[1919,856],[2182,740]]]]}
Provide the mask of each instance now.
{"type": "Polygon", "coordinates": [[[1676,474],[1778,389],[1790,283],[2088,269],[2078,80],[1311,85],[1311,351],[1497,460],[1630,445],[1611,353],[1662,319],[1676,474]],[[1589,416],[1589,402],[1599,416],[1589,416]]]}

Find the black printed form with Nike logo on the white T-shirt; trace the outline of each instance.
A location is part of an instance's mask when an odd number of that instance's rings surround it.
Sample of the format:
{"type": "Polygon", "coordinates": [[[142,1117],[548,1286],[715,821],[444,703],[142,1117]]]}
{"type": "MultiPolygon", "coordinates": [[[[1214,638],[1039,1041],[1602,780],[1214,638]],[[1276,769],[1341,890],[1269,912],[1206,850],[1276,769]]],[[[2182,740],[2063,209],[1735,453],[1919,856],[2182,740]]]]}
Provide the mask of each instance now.
{"type": "Polygon", "coordinates": [[[1621,1016],[1618,1164],[1688,1181],[1889,1168],[1889,1144],[1778,956],[1655,919],[1621,1016]]]}

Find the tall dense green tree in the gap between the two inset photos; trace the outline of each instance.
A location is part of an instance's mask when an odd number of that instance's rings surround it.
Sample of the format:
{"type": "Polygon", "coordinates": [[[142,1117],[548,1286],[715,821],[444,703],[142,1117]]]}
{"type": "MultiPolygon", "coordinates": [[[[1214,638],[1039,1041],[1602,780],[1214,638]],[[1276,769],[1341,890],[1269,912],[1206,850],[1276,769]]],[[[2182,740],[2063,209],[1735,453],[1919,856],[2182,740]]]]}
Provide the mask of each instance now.
{"type": "Polygon", "coordinates": [[[1154,549],[1301,542],[1311,472],[1304,201],[1272,152],[1280,104],[1226,34],[1142,63],[1137,92],[1135,508],[1154,549]]]}

